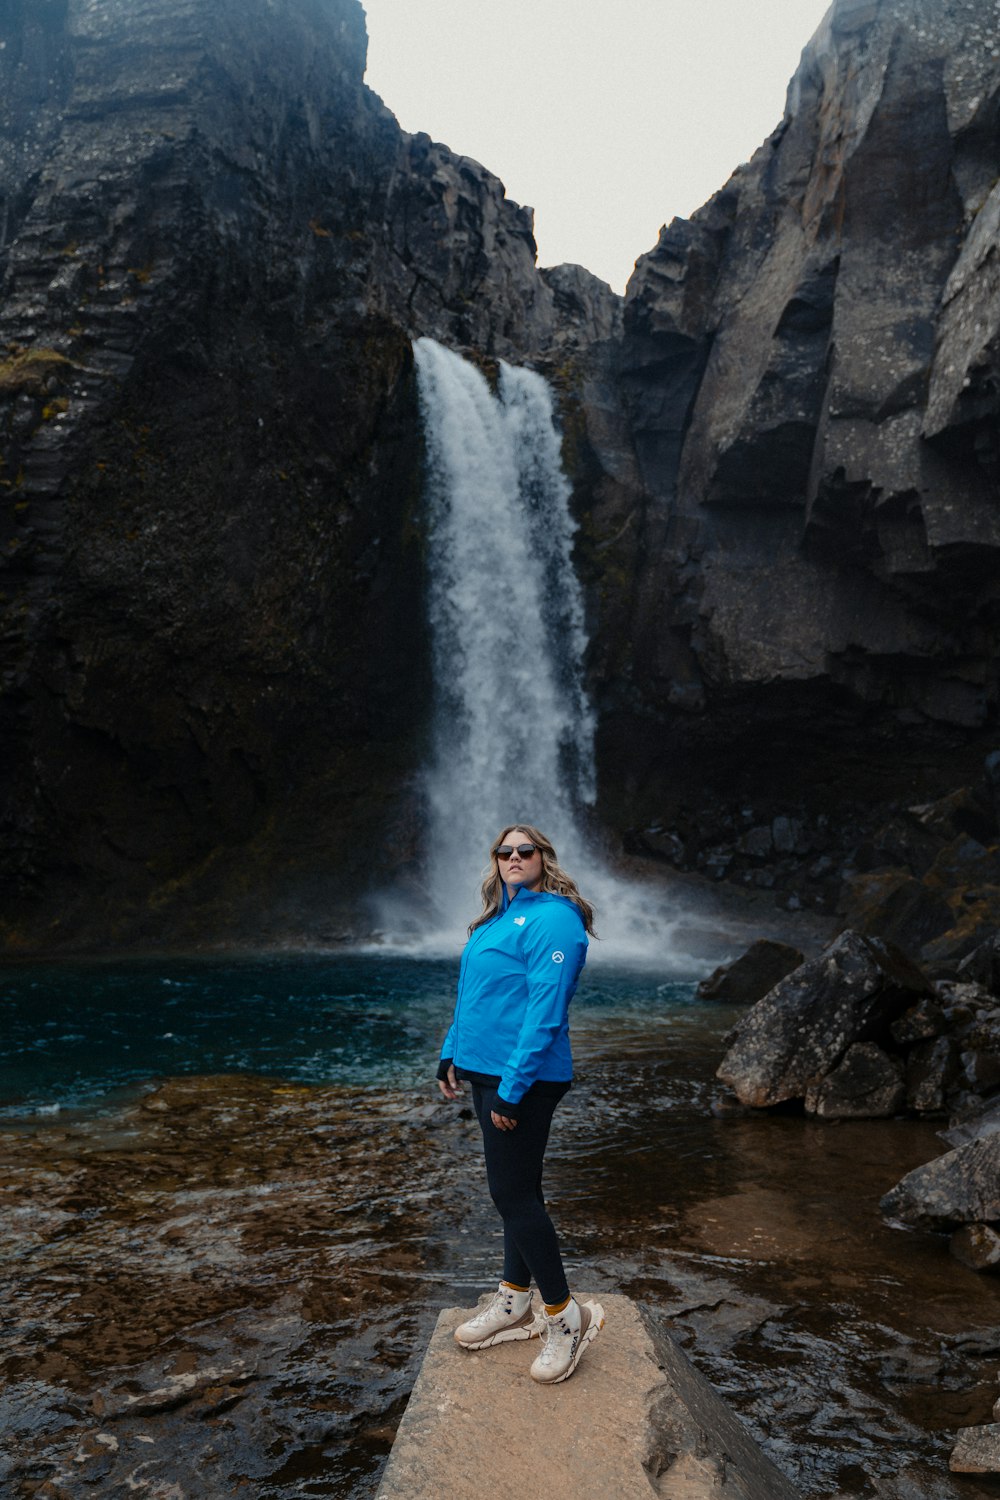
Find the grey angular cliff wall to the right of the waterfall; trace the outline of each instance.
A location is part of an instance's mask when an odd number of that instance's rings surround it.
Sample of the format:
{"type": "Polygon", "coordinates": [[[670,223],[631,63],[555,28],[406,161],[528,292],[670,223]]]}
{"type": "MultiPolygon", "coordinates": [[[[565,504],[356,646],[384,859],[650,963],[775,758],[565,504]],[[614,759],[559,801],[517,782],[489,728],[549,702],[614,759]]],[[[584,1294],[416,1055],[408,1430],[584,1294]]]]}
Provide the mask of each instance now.
{"type": "Polygon", "coordinates": [[[654,702],[649,765],[810,717],[816,740],[817,708],[841,750],[994,712],[994,44],[972,0],[838,0],[771,140],[639,261],[616,752],[654,702]]]}

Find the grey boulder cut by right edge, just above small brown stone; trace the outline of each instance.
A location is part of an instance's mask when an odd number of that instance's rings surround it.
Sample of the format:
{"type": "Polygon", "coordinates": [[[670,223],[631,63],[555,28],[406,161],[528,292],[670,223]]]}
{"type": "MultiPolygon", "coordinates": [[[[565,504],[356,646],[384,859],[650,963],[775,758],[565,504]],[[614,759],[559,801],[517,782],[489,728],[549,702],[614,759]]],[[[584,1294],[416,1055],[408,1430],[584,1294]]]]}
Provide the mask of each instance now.
{"type": "Polygon", "coordinates": [[[909,1172],[880,1208],[886,1218],[915,1228],[1000,1221],[1000,1134],[982,1136],[909,1172]]]}

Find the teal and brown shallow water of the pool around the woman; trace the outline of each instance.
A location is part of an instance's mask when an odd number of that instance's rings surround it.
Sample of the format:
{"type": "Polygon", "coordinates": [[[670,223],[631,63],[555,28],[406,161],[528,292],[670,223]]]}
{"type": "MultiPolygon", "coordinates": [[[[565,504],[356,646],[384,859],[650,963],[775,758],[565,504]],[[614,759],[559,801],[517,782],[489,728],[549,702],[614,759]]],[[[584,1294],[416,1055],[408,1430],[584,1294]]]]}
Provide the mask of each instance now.
{"type": "MultiPolygon", "coordinates": [[[[4,1494],[375,1492],[436,1308],[498,1274],[471,1112],[427,1082],[454,972],[12,974],[4,1494]]],[[[997,1282],[877,1214],[934,1131],[714,1114],[733,1018],[588,972],[549,1167],[571,1280],[667,1316],[804,1494],[1000,1494],[948,1473],[996,1396],[997,1282]]]]}

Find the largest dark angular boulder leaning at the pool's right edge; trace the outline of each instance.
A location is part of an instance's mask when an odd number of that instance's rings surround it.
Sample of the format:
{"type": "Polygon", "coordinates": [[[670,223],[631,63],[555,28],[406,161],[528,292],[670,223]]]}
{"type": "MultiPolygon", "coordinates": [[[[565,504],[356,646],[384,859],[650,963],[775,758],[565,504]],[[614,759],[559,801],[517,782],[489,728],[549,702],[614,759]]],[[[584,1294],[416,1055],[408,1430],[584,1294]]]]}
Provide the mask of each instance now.
{"type": "Polygon", "coordinates": [[[738,1023],[717,1076],[742,1104],[804,1100],[853,1042],[886,1040],[892,1022],[931,993],[904,954],[841,933],[738,1023]]]}

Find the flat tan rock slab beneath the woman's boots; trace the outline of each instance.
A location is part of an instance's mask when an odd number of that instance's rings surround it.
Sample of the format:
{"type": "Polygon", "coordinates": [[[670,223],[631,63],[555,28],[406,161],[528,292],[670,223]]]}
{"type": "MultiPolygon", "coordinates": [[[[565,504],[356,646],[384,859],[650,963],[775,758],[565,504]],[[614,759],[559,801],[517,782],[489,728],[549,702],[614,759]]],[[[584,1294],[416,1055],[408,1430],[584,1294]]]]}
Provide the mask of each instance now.
{"type": "Polygon", "coordinates": [[[798,1500],[649,1312],[595,1300],[604,1330],[558,1386],[528,1374],[538,1340],[463,1350],[451,1334],[468,1310],[444,1311],[376,1500],[465,1500],[484,1485],[550,1500],[798,1500]]]}

